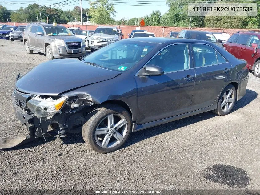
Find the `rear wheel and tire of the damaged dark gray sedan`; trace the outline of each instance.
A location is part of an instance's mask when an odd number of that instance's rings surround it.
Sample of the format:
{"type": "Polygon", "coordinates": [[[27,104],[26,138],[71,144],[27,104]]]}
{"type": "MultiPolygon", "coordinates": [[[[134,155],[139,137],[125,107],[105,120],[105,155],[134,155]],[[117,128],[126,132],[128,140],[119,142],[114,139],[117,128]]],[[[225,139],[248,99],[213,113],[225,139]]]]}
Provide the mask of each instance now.
{"type": "Polygon", "coordinates": [[[220,116],[227,115],[232,110],[236,97],[236,88],[231,84],[227,85],[218,99],[217,109],[212,112],[220,116]]]}

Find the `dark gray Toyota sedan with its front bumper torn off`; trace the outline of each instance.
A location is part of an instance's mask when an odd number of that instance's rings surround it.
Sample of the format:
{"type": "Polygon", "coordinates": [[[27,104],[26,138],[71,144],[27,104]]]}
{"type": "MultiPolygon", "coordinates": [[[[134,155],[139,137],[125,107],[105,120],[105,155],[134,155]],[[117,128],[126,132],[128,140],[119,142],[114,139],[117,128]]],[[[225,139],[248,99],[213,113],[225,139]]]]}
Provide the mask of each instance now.
{"type": "Polygon", "coordinates": [[[131,38],[18,75],[12,103],[28,139],[82,131],[91,148],[107,153],[131,132],[207,111],[228,114],[248,78],[246,61],[211,42],[131,38]]]}

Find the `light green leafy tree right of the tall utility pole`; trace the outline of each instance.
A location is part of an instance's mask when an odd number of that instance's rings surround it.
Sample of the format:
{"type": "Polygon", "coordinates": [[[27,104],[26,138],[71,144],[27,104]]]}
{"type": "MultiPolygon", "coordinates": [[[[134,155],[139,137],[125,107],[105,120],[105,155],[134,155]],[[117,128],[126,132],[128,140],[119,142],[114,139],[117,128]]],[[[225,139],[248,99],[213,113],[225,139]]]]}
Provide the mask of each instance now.
{"type": "Polygon", "coordinates": [[[111,24],[114,23],[113,16],[115,16],[115,8],[113,3],[108,0],[100,0],[98,2],[90,1],[89,13],[91,22],[96,24],[111,24]]]}

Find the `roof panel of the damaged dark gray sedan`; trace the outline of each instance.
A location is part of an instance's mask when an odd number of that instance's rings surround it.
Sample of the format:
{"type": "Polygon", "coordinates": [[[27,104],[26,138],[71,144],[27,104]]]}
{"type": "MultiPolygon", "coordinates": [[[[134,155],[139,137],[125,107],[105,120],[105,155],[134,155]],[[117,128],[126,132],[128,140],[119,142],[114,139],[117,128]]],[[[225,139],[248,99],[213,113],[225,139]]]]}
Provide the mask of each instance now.
{"type": "Polygon", "coordinates": [[[203,41],[203,40],[196,40],[196,39],[182,39],[182,38],[175,38],[175,37],[135,37],[131,39],[122,39],[122,41],[140,41],[140,42],[147,42],[147,43],[207,43],[211,45],[215,45],[214,43],[211,43],[209,41],[203,41]]]}

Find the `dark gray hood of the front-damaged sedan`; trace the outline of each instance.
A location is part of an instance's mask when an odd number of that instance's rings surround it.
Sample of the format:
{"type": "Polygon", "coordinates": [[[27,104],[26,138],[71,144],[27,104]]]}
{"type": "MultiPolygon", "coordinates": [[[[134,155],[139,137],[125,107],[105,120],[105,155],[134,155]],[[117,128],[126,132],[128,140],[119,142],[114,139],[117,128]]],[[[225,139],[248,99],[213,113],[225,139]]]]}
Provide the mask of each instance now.
{"type": "Polygon", "coordinates": [[[16,82],[18,91],[58,95],[74,88],[112,79],[117,71],[86,64],[78,59],[54,59],[33,68],[16,82]]]}

